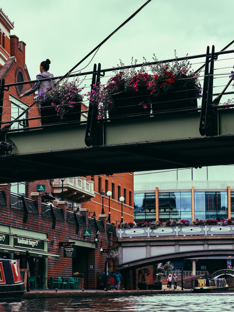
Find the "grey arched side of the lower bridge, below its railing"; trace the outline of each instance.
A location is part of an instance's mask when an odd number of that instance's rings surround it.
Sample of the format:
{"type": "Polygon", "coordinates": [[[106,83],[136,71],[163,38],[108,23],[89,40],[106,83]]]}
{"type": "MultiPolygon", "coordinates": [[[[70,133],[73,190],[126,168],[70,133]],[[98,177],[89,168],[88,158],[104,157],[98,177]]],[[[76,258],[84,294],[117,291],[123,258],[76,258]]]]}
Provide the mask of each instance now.
{"type": "Polygon", "coordinates": [[[131,270],[169,260],[234,256],[234,238],[233,235],[119,238],[118,249],[119,269],[131,270]]]}

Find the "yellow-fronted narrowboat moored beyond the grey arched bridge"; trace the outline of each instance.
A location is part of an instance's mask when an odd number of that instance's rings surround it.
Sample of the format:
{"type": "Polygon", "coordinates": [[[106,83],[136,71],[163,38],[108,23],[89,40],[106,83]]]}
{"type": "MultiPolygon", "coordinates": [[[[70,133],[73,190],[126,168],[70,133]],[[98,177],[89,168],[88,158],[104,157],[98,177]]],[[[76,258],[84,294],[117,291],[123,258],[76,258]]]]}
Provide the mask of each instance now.
{"type": "Polygon", "coordinates": [[[228,285],[225,278],[203,278],[195,280],[194,292],[224,292],[228,291],[228,285]]]}

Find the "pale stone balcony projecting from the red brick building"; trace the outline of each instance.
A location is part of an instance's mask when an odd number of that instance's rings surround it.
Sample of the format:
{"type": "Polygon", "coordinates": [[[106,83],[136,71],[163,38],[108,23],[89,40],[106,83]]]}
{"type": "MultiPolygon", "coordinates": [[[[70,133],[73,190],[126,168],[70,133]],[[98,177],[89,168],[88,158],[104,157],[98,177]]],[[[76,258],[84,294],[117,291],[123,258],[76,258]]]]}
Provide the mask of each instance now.
{"type": "MultiPolygon", "coordinates": [[[[87,181],[84,177],[65,178],[63,182],[64,197],[79,202],[88,202],[94,195],[94,181],[87,181]]],[[[54,193],[62,193],[62,181],[54,179],[54,193]]]]}

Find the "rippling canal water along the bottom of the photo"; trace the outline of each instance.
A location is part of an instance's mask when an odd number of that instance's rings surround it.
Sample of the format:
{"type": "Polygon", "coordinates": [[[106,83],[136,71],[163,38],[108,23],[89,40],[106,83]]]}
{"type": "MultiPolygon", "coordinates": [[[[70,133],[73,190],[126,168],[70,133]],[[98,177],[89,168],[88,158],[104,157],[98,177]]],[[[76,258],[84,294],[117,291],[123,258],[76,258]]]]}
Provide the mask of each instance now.
{"type": "Polygon", "coordinates": [[[233,311],[234,293],[48,298],[0,303],[0,312],[220,312],[233,311]]]}

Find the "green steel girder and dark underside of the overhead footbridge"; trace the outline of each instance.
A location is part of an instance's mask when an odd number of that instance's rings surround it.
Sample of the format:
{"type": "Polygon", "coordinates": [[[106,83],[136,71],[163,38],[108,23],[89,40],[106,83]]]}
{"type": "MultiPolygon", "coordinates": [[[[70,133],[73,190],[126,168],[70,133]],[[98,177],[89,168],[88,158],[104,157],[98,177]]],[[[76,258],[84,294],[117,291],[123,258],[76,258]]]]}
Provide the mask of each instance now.
{"type": "Polygon", "coordinates": [[[104,122],[104,144],[87,147],[85,124],[10,132],[0,183],[232,164],[234,111],[219,113],[219,135],[199,134],[199,113],[104,122]]]}

